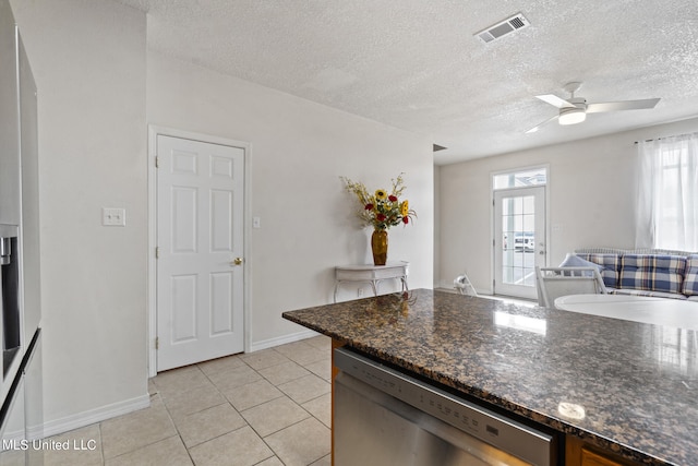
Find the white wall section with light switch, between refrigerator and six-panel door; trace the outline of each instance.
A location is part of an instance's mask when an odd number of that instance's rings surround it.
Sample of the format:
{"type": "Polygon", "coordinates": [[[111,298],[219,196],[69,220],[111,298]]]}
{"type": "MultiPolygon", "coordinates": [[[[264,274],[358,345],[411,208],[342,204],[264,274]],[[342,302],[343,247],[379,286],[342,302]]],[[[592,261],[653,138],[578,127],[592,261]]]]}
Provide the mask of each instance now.
{"type": "Polygon", "coordinates": [[[145,406],[145,17],[11,1],[38,87],[47,433],[145,406]],[[127,210],[103,227],[101,207],[127,210]]]}

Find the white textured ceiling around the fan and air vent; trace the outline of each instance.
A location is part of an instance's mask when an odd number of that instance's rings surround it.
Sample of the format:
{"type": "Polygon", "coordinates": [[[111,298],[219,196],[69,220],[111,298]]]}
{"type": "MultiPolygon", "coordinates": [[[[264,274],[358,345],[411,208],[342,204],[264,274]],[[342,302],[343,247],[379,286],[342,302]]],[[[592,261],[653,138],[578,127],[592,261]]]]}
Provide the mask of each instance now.
{"type": "Polygon", "coordinates": [[[116,0],[148,13],[148,47],[428,135],[436,164],[698,116],[696,0],[116,0]],[[529,27],[473,34],[521,12],[529,27]],[[661,97],[574,127],[539,94],[661,97]]]}

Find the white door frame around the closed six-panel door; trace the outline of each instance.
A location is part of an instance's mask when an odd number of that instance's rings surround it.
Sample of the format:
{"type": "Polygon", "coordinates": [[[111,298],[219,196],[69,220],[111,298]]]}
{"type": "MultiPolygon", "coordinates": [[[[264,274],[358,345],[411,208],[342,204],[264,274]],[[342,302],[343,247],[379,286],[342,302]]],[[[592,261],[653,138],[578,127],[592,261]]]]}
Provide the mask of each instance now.
{"type": "Polygon", "coordinates": [[[209,144],[228,145],[240,147],[244,151],[243,178],[244,178],[244,203],[243,203],[243,266],[242,283],[242,312],[243,312],[243,342],[244,353],[250,351],[250,309],[251,309],[251,284],[250,284],[250,238],[251,225],[248,222],[251,212],[251,187],[250,187],[250,143],[230,140],[227,138],[214,136],[210,134],[195,133],[191,131],[178,130],[174,128],[148,124],[148,273],[147,273],[147,309],[148,309],[148,378],[157,374],[157,260],[155,248],[157,247],[157,167],[155,157],[157,154],[157,136],[165,135],[171,138],[186,139],[209,144]]]}

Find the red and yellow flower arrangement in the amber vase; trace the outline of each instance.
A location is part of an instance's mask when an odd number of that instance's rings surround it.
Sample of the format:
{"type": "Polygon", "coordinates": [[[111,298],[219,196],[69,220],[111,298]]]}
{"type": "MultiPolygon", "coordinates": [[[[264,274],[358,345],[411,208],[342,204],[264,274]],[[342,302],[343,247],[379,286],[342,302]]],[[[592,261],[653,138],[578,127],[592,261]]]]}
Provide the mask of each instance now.
{"type": "Polygon", "coordinates": [[[348,192],[354,194],[360,203],[357,215],[365,226],[373,226],[375,230],[387,230],[396,225],[409,224],[417,217],[417,213],[410,208],[407,200],[400,202],[399,198],[405,190],[402,174],[397,179],[392,179],[393,190],[388,193],[384,189],[369,193],[361,182],[353,182],[348,178],[339,177],[348,192]]]}

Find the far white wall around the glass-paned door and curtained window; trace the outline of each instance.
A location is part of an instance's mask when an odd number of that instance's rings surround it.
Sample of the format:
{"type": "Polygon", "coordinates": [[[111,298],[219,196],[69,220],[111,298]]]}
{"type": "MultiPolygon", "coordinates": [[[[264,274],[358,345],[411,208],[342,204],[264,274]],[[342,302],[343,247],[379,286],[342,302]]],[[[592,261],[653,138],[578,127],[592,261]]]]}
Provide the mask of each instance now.
{"type": "Polygon", "coordinates": [[[698,119],[437,167],[440,199],[435,282],[452,287],[468,271],[481,292],[492,290],[493,171],[549,165],[549,265],[583,247],[635,247],[635,141],[695,132],[698,119]]]}

